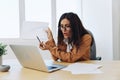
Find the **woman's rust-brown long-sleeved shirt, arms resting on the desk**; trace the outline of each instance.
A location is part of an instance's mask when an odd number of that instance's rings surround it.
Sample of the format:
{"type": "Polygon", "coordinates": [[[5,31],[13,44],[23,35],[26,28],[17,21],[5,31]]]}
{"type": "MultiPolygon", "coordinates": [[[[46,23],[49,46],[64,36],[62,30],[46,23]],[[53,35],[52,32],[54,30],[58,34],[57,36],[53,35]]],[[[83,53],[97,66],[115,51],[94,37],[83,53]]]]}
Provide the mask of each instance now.
{"type": "Polygon", "coordinates": [[[78,60],[90,59],[90,44],[91,38],[87,38],[84,39],[78,49],[73,46],[73,49],[70,52],[60,50],[57,46],[51,47],[49,50],[55,58],[59,58],[64,62],[76,62],[78,60]]]}

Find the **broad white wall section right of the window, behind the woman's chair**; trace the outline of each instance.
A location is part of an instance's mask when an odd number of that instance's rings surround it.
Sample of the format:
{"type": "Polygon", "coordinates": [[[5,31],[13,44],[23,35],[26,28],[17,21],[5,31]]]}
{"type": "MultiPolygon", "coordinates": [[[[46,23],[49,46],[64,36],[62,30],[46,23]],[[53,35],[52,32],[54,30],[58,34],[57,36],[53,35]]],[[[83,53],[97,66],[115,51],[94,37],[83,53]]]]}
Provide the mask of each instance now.
{"type": "Polygon", "coordinates": [[[83,22],[94,34],[97,55],[103,60],[112,60],[112,0],[82,0],[82,2],[83,22]]]}

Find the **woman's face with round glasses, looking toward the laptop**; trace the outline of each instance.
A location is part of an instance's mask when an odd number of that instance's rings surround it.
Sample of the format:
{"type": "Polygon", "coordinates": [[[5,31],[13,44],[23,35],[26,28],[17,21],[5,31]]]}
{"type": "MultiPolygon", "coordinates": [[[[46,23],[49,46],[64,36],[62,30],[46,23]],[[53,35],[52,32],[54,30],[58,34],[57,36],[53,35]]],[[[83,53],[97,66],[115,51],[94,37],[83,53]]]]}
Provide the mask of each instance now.
{"type": "Polygon", "coordinates": [[[65,18],[61,20],[60,28],[61,28],[64,38],[71,38],[72,30],[71,30],[70,21],[68,19],[65,18]]]}

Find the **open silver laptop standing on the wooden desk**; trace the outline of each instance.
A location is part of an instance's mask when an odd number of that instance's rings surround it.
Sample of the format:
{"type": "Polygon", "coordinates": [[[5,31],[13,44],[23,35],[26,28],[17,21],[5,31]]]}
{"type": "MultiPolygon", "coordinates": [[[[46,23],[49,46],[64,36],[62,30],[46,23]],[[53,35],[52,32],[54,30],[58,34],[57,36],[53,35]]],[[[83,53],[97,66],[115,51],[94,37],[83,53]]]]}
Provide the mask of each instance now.
{"type": "Polygon", "coordinates": [[[20,64],[25,68],[53,72],[64,68],[64,65],[47,65],[42,58],[40,48],[33,45],[10,45],[20,64]]]}

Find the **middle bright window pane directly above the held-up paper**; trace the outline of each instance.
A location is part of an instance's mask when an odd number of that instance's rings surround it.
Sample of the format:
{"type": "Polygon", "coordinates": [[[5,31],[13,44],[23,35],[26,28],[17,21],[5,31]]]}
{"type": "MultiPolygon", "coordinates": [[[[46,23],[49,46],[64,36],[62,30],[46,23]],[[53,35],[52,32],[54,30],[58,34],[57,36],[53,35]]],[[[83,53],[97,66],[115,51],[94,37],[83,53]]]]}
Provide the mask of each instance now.
{"type": "Polygon", "coordinates": [[[51,0],[25,0],[25,20],[51,22],[51,0]]]}

